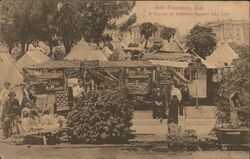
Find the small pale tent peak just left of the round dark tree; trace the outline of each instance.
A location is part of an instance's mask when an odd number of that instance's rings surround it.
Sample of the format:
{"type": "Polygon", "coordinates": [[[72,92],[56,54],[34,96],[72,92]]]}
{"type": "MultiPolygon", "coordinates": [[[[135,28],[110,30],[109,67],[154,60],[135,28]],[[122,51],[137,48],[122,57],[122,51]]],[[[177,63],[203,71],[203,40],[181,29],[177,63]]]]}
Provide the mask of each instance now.
{"type": "Polygon", "coordinates": [[[169,53],[184,53],[185,52],[182,46],[175,39],[173,39],[169,43],[164,43],[160,51],[169,52],[169,53]]]}

